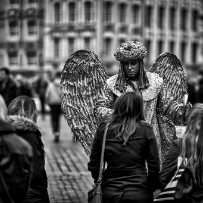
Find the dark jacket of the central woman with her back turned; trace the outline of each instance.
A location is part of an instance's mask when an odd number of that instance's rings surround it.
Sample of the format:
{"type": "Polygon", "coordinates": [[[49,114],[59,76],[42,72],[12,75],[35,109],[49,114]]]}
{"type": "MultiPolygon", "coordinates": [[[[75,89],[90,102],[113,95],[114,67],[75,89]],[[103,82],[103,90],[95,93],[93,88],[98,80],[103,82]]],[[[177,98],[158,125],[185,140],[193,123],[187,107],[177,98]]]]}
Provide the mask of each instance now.
{"type": "MultiPolygon", "coordinates": [[[[95,135],[88,163],[88,170],[94,180],[97,180],[99,173],[103,134],[104,124],[101,124],[95,135]]],[[[159,175],[159,155],[151,125],[139,122],[126,145],[123,140],[116,138],[113,129],[108,130],[105,161],[107,169],[103,173],[103,190],[117,188],[120,193],[135,190],[152,194],[159,175]]]]}

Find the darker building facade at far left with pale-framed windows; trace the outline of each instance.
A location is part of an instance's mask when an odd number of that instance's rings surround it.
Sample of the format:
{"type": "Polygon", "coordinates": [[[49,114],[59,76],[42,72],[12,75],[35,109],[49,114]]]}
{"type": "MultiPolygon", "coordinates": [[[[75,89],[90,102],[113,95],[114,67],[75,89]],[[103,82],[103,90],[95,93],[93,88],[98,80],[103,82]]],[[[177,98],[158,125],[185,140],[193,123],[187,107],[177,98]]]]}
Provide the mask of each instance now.
{"type": "Polygon", "coordinates": [[[43,1],[0,1],[0,65],[24,74],[43,69],[43,1]]]}

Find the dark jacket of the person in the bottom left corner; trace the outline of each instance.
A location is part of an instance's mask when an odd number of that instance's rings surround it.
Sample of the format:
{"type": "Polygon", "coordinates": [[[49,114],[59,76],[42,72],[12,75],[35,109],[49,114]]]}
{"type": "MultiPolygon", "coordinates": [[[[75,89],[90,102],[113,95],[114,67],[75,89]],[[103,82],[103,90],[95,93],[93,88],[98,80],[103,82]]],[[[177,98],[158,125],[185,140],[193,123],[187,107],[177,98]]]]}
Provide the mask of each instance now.
{"type": "MultiPolygon", "coordinates": [[[[32,147],[16,135],[15,129],[0,120],[0,170],[13,201],[26,196],[32,168],[32,147]]],[[[0,181],[0,203],[8,203],[0,181]]]]}

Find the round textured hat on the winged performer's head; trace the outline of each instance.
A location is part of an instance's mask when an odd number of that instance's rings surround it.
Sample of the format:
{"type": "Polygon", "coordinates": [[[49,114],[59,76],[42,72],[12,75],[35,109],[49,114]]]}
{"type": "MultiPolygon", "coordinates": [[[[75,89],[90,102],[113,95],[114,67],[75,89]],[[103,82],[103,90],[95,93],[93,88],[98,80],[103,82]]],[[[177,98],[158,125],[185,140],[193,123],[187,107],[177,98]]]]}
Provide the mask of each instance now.
{"type": "Polygon", "coordinates": [[[131,62],[144,59],[147,55],[146,48],[138,41],[127,41],[116,49],[114,56],[117,61],[131,62]]]}

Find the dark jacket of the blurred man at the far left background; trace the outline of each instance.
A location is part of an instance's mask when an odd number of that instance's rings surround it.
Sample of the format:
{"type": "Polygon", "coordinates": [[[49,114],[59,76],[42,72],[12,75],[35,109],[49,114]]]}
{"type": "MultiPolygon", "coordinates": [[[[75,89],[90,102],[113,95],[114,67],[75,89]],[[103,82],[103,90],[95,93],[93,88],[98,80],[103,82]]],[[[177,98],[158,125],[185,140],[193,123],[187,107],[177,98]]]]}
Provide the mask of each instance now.
{"type": "Polygon", "coordinates": [[[0,83],[0,94],[4,98],[7,106],[18,96],[18,92],[17,83],[13,79],[8,78],[6,82],[0,83]]]}

